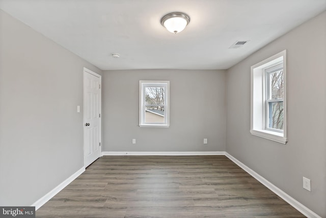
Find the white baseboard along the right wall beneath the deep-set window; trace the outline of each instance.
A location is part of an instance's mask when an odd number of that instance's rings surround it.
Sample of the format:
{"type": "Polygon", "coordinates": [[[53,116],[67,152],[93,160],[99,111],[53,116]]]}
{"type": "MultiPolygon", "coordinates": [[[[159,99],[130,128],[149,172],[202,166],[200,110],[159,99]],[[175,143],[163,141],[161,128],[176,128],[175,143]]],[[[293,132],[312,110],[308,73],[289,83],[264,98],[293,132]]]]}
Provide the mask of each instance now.
{"type": "Polygon", "coordinates": [[[288,194],[286,194],[285,192],[283,192],[280,188],[278,188],[277,186],[275,186],[274,184],[272,184],[271,182],[269,182],[268,180],[266,180],[264,177],[262,177],[261,175],[259,175],[258,173],[256,173],[255,171],[253,171],[252,169],[250,169],[249,167],[247,167],[246,165],[244,165],[242,162],[240,162],[239,160],[237,160],[235,157],[233,157],[228,152],[225,152],[225,156],[227,156],[236,165],[238,165],[244,171],[246,171],[247,173],[249,173],[252,177],[254,177],[255,179],[257,179],[260,183],[262,183],[263,185],[265,185],[268,189],[270,189],[272,192],[274,192],[275,194],[277,194],[280,198],[282,198],[284,201],[286,201],[287,203],[289,203],[292,207],[294,207],[295,209],[297,209],[298,211],[300,211],[305,216],[307,216],[309,218],[321,218],[321,216],[319,216],[318,214],[316,214],[315,212],[313,212],[312,210],[310,210],[308,207],[306,207],[305,205],[301,204],[300,202],[298,202],[297,200],[295,200],[294,198],[292,198],[291,196],[289,196],[288,194]]]}

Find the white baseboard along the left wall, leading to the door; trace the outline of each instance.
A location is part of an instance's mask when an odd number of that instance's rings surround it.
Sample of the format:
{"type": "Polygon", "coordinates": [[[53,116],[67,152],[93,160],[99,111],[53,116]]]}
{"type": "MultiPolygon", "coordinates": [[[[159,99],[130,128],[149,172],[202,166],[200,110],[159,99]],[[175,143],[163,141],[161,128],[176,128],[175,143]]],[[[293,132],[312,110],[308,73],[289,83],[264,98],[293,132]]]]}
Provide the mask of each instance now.
{"type": "Polygon", "coordinates": [[[53,188],[49,193],[47,193],[45,196],[43,196],[42,198],[37,200],[31,206],[35,207],[36,210],[39,209],[43,204],[45,204],[48,200],[50,200],[55,195],[57,195],[62,189],[64,189],[70,182],[72,182],[75,178],[77,178],[84,171],[85,171],[85,167],[80,168],[77,172],[72,174],[68,179],[61,182],[57,187],[53,188]]]}

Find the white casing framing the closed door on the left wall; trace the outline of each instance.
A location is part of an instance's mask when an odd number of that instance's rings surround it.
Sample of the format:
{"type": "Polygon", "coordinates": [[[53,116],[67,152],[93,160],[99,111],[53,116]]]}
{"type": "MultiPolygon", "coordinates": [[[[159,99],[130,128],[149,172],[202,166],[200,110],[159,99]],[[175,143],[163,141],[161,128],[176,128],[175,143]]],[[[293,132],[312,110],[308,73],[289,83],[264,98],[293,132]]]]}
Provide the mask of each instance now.
{"type": "Polygon", "coordinates": [[[99,143],[100,143],[100,153],[99,157],[102,156],[102,76],[100,74],[97,74],[93,72],[90,69],[87,69],[84,67],[83,70],[83,151],[84,151],[84,167],[87,168],[86,166],[86,142],[85,142],[85,120],[86,120],[86,114],[85,114],[85,73],[92,74],[93,76],[96,76],[100,80],[100,99],[99,99],[99,111],[100,111],[100,118],[99,118],[99,143]]]}

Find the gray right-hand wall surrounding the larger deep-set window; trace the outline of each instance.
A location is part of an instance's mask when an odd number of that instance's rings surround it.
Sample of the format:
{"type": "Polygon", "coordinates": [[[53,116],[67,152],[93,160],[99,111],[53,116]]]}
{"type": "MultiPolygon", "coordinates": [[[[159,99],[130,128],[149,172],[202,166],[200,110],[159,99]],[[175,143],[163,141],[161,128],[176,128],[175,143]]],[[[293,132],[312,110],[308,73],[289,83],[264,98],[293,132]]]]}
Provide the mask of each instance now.
{"type": "Polygon", "coordinates": [[[326,12],[227,71],[226,151],[326,217],[326,12]],[[288,143],[250,134],[250,67],[287,49],[288,143]],[[312,192],[302,177],[311,179],[312,192]]]}

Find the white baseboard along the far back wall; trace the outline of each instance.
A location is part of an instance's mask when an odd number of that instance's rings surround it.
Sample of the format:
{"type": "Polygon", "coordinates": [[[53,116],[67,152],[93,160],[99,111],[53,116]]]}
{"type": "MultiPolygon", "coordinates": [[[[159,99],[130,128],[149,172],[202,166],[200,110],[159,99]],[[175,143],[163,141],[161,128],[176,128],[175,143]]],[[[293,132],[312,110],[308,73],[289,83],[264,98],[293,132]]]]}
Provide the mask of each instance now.
{"type": "Polygon", "coordinates": [[[192,155],[225,155],[225,151],[162,151],[162,152],[138,152],[138,151],[103,151],[102,156],[127,156],[127,155],[139,155],[139,156],[192,156],[192,155]]]}

